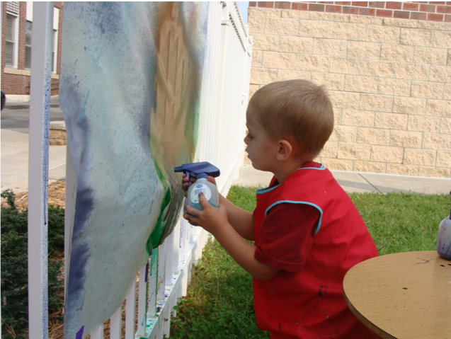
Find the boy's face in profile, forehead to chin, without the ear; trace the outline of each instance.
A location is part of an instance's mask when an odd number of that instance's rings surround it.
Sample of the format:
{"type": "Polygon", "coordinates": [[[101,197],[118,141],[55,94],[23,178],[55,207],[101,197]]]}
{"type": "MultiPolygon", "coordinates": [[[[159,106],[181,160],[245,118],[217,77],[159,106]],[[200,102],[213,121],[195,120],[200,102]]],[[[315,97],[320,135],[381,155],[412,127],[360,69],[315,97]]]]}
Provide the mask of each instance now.
{"type": "Polygon", "coordinates": [[[246,114],[246,126],[249,133],[244,138],[249,159],[252,161],[253,168],[273,172],[277,163],[278,143],[271,140],[266,132],[258,126],[249,115],[249,110],[251,110],[251,107],[248,108],[246,114]]]}

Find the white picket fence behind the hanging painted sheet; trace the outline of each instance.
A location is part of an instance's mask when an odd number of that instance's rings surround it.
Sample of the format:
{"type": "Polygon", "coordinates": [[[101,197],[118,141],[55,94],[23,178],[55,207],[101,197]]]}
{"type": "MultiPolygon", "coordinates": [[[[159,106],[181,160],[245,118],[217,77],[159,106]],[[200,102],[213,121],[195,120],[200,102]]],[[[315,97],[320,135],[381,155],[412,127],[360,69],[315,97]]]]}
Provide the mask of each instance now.
{"type": "MultiPolygon", "coordinates": [[[[47,2],[47,4],[53,6],[52,2],[47,2]]],[[[49,16],[49,13],[49,11],[42,11],[33,15],[42,17],[43,15],[49,16]]],[[[33,42],[36,35],[33,33],[33,42]]],[[[199,130],[200,136],[195,160],[209,161],[221,169],[217,185],[223,195],[227,194],[233,180],[238,178],[239,167],[243,163],[251,53],[252,38],[249,36],[248,26],[241,18],[238,4],[234,1],[210,2],[207,57],[202,79],[200,108],[202,125],[199,130]]],[[[45,76],[47,75],[45,74],[45,76]]],[[[39,93],[39,91],[46,93],[46,88],[47,85],[44,84],[32,92],[31,100],[33,100],[33,94],[39,93]]],[[[45,120],[46,115],[42,113],[40,115],[45,120]]],[[[42,125],[42,121],[40,124],[42,125]]],[[[31,127],[30,120],[30,143],[31,127]]],[[[42,132],[43,134],[45,132],[42,132]]],[[[76,179],[69,151],[67,154],[66,206],[72,206],[76,192],[76,179]]],[[[31,161],[30,157],[30,171],[31,161]]],[[[35,157],[33,161],[36,161],[36,166],[42,167],[42,163],[45,163],[45,156],[35,157]]],[[[45,174],[42,174],[42,177],[44,176],[45,174]]],[[[35,180],[37,180],[35,185],[41,187],[41,183],[47,180],[47,177],[35,180]]],[[[30,208],[33,203],[40,206],[45,194],[46,191],[42,191],[40,195],[36,194],[36,201],[29,202],[30,208]]],[[[46,199],[45,197],[45,203],[46,199]]],[[[39,214],[36,220],[39,222],[44,218],[39,214]]],[[[70,232],[71,220],[71,211],[67,209],[67,235],[70,232]]],[[[47,231],[47,225],[38,229],[41,232],[47,231]]],[[[67,239],[69,238],[67,236],[67,239]]],[[[120,307],[110,318],[109,338],[163,338],[163,335],[169,337],[171,315],[175,316],[176,314],[173,306],[182,296],[186,295],[192,265],[201,257],[207,238],[207,232],[200,227],[191,226],[184,219],[178,222],[171,235],[159,246],[158,251],[153,251],[149,263],[139,270],[137,281],[132,285],[125,299],[125,333],[121,326],[122,307],[120,307]],[[138,295],[136,295],[137,289],[138,295]]],[[[41,235],[35,239],[29,239],[29,242],[29,255],[38,255],[38,259],[33,263],[35,265],[33,270],[29,266],[29,281],[37,281],[40,284],[35,289],[32,289],[31,285],[33,284],[30,284],[30,339],[46,339],[48,337],[47,314],[45,314],[44,304],[47,298],[47,288],[42,287],[42,284],[47,284],[47,279],[44,277],[47,275],[47,263],[42,260],[39,263],[37,261],[40,260],[39,258],[46,258],[42,255],[44,252],[47,253],[47,238],[41,235]],[[36,269],[36,267],[40,269],[36,269]]],[[[67,253],[68,246],[67,242],[65,247],[67,253]]],[[[65,265],[67,264],[65,262],[65,265]]],[[[91,333],[91,339],[103,338],[102,325],[91,333]]]]}

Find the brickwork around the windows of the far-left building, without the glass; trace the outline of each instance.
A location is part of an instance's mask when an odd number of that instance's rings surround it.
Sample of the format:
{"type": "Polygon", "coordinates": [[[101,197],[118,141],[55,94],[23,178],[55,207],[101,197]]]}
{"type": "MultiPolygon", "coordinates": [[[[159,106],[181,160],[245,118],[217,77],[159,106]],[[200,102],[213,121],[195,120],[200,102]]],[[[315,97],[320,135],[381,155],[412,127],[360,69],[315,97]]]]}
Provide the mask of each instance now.
{"type": "MultiPolygon", "coordinates": [[[[1,41],[1,88],[6,95],[30,95],[30,76],[21,74],[5,73],[6,60],[6,1],[3,4],[3,27],[1,41]]],[[[62,13],[64,1],[55,1],[55,8],[59,9],[58,27],[58,52],[57,52],[57,74],[60,74],[61,63],[61,40],[62,40],[62,13]]],[[[25,34],[26,34],[27,2],[19,1],[18,16],[18,70],[25,70],[25,34]]],[[[59,79],[52,79],[52,96],[59,92],[59,79]]]]}

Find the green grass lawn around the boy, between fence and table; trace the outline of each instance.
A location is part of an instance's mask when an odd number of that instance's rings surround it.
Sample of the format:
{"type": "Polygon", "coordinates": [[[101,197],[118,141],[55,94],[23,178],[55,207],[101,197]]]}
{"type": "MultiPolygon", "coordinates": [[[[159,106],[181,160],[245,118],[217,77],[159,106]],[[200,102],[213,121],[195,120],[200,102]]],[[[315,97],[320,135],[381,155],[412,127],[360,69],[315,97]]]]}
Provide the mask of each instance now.
{"type": "MultiPolygon", "coordinates": [[[[227,198],[252,211],[257,188],[232,186],[227,198]]],[[[435,250],[438,225],[450,213],[448,195],[350,194],[375,240],[379,255],[435,250]]],[[[217,241],[204,249],[171,321],[171,338],[269,338],[256,326],[251,276],[217,241]]]]}

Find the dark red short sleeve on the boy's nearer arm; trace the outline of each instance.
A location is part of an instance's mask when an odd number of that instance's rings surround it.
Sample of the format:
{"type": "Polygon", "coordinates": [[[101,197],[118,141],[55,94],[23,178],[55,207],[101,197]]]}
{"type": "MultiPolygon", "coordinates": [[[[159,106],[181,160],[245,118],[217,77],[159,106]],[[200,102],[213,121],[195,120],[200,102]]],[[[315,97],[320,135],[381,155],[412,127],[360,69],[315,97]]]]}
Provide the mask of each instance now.
{"type": "Polygon", "coordinates": [[[311,205],[275,205],[261,224],[255,258],[280,270],[302,270],[313,245],[319,217],[319,210],[311,205]]]}

